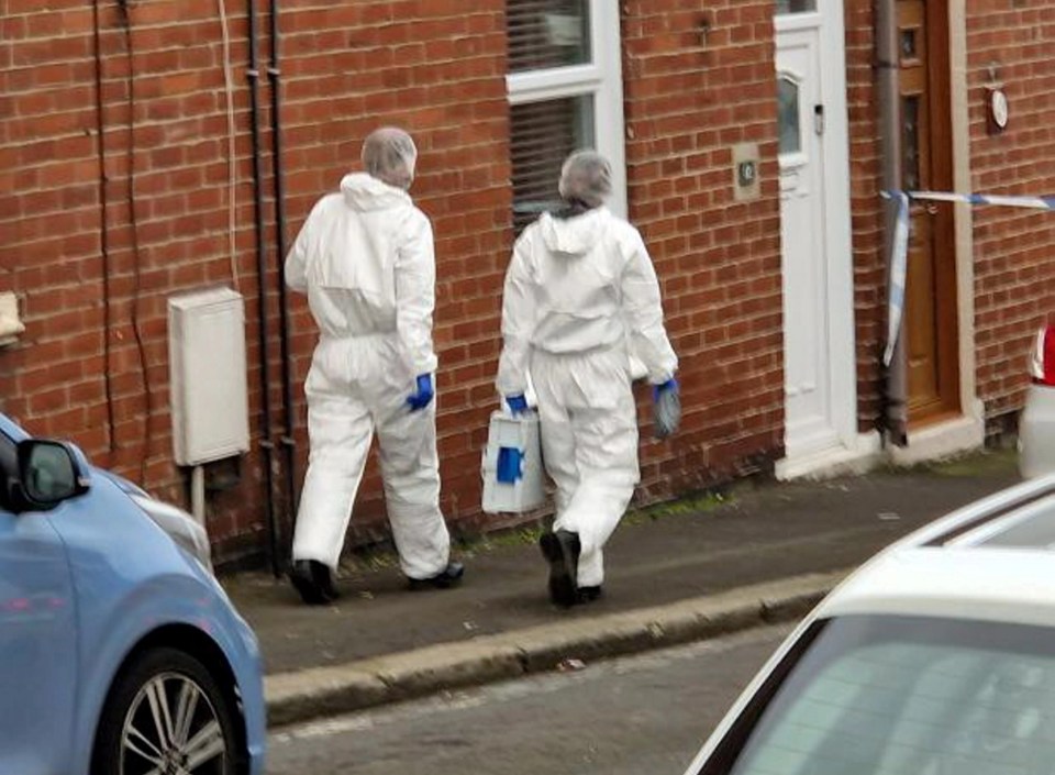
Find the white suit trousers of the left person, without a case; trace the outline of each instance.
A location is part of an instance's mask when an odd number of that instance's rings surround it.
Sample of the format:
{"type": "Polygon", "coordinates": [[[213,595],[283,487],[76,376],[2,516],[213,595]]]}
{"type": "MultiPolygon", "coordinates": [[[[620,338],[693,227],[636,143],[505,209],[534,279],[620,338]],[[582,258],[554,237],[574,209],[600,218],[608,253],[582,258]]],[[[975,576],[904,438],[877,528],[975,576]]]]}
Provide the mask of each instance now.
{"type": "Polygon", "coordinates": [[[320,345],[306,386],[311,453],[293,560],[337,566],[376,430],[400,567],[410,578],[434,576],[447,566],[451,547],[440,511],[435,401],[410,411],[406,399],[413,378],[392,367],[392,342],[376,337],[338,344],[320,345]],[[349,363],[362,377],[348,378],[349,363]]]}

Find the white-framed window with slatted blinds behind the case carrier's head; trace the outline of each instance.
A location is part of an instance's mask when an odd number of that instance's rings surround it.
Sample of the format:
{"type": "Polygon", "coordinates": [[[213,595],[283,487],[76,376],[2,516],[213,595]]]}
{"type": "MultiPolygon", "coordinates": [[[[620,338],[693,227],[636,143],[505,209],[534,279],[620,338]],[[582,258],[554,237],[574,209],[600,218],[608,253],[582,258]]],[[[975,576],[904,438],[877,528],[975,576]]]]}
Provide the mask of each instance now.
{"type": "Polygon", "coordinates": [[[582,147],[611,162],[610,207],[625,215],[618,3],[507,0],[506,12],[517,231],[556,207],[560,165],[582,147]]]}

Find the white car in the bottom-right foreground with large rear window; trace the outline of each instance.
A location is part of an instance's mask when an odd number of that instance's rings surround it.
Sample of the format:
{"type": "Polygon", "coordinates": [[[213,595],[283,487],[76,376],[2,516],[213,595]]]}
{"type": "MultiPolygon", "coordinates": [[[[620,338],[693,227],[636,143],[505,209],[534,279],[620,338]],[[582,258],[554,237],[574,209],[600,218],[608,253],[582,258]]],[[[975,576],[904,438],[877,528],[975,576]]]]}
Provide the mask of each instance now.
{"type": "Polygon", "coordinates": [[[752,680],[687,775],[1055,772],[1055,476],[880,552],[752,680]]]}

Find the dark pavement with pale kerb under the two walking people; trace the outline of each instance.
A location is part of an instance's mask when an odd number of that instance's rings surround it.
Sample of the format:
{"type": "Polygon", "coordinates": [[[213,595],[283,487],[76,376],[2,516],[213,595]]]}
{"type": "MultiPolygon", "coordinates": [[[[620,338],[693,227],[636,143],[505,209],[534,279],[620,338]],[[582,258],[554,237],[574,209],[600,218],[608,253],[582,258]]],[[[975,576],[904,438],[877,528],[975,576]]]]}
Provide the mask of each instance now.
{"type": "Polygon", "coordinates": [[[456,546],[453,590],[408,591],[384,555],[348,563],[330,607],[269,575],[223,584],[260,639],[274,726],[797,619],[878,549],[1015,481],[1013,454],[984,452],[636,511],[606,550],[604,597],[568,611],[546,598],[537,529],[456,546]]]}

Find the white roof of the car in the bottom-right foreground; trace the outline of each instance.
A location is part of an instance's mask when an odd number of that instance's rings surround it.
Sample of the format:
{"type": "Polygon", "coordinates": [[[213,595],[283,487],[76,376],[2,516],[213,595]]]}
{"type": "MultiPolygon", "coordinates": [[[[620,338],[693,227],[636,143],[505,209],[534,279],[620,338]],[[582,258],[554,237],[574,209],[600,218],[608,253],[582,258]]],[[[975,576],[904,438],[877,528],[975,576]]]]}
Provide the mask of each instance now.
{"type": "Polygon", "coordinates": [[[1001,490],[898,541],[813,616],[869,613],[1055,625],[1055,475],[1001,490]]]}

